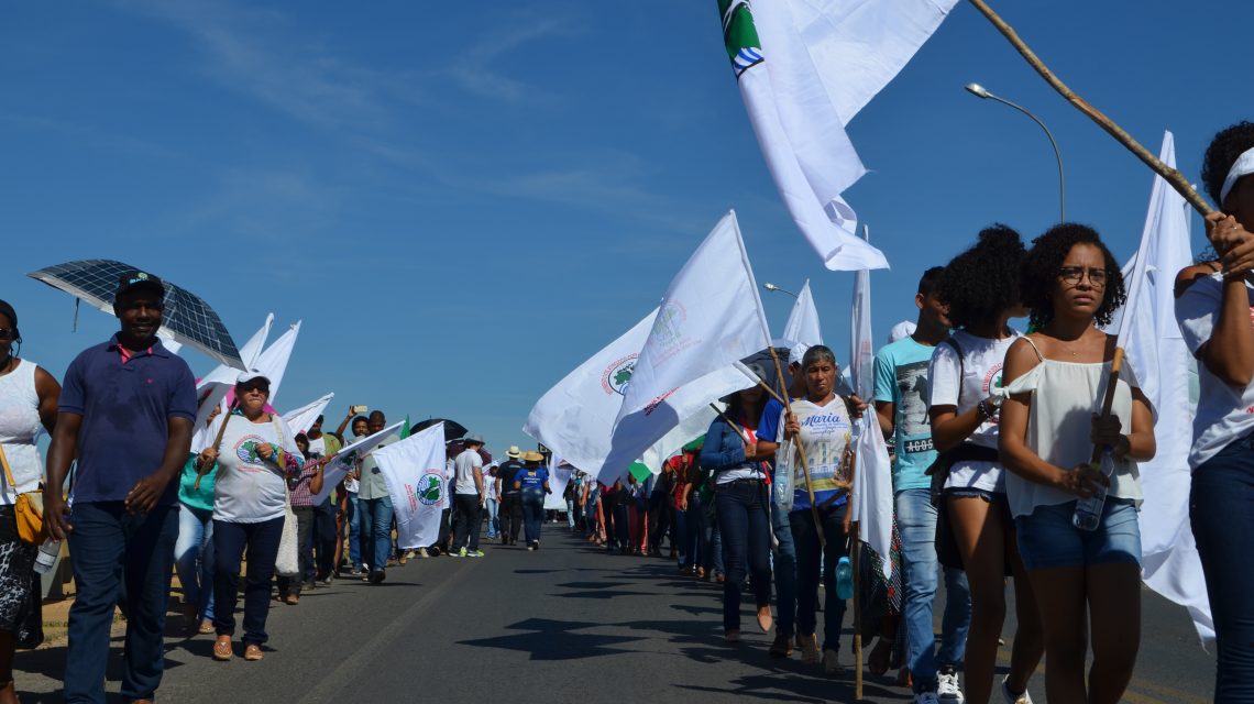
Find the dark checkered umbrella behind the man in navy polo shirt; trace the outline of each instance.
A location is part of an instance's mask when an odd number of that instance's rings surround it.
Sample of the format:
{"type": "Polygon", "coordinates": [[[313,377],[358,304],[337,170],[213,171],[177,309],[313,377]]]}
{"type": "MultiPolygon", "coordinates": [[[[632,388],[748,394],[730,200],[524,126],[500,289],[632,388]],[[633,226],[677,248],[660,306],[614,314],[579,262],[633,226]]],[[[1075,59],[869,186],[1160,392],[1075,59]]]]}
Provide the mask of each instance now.
{"type": "MultiPolygon", "coordinates": [[[[89,259],[49,266],[26,276],[83,299],[105,312],[113,312],[118,279],[129,271],[135,271],[135,267],[108,259],[89,259]]],[[[161,329],[176,341],[196,348],[222,364],[243,369],[240,350],[236,349],[226,325],[209,304],[169,281],[164,284],[166,301],[161,329]]]]}

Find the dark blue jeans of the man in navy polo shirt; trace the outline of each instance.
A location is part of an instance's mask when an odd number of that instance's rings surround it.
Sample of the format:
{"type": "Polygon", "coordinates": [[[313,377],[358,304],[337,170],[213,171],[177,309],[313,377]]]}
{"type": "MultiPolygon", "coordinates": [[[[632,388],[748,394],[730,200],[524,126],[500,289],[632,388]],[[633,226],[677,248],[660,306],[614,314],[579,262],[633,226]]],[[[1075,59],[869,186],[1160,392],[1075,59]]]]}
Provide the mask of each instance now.
{"type": "Polygon", "coordinates": [[[122,696],[152,699],[166,666],[162,635],[178,507],[127,513],[120,501],[78,502],[69,536],[78,594],[70,606],[65,701],[104,701],[113,609],[127,614],[122,696]]]}

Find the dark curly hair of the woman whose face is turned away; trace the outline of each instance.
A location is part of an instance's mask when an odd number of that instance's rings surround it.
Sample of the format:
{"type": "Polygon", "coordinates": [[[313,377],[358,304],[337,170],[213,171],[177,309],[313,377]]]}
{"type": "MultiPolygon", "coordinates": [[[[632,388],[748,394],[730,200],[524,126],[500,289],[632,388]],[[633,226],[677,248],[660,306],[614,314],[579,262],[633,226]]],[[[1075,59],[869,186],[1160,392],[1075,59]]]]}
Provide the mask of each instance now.
{"type": "Polygon", "coordinates": [[[1027,247],[1014,230],[1002,223],[981,230],[976,246],[953,257],[937,282],[937,299],[949,306],[953,326],[996,320],[1018,302],[1026,255],[1027,247]]]}

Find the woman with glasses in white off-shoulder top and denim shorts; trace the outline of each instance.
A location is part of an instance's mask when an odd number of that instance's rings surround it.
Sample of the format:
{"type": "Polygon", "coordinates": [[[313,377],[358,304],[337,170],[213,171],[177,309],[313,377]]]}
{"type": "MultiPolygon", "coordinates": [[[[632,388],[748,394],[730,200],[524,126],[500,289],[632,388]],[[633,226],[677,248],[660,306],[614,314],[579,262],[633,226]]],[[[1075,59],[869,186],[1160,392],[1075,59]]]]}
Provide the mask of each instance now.
{"type": "Polygon", "coordinates": [[[1126,299],[1119,262],[1092,228],[1062,223],[1033,242],[1022,300],[1036,333],[1006,355],[998,447],[1020,555],[1045,631],[1050,701],[1119,701],[1140,644],[1141,499],[1137,461],[1154,457],[1154,418],[1125,364],[1111,414],[1115,338],[1102,333],[1126,299]],[[1110,448],[1106,477],[1090,464],[1110,448]],[[1078,498],[1109,486],[1097,526],[1072,523],[1078,498]],[[1091,634],[1093,664],[1085,676],[1091,634]]]}

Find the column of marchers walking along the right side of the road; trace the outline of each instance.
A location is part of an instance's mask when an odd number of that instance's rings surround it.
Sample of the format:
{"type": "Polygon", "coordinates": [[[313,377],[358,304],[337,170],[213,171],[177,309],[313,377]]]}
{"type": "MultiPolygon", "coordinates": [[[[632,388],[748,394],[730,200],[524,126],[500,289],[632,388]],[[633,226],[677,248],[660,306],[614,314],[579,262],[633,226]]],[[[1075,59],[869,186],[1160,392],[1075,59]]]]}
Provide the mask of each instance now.
{"type": "MultiPolygon", "coordinates": [[[[1190,516],[1218,639],[1215,700],[1225,703],[1254,700],[1254,616],[1239,567],[1254,536],[1251,173],[1254,124],[1216,134],[1203,169],[1221,208],[1205,218],[1214,252],[1176,280],[1176,317],[1200,376],[1190,516]]],[[[775,629],[771,655],[796,645],[804,661],[839,674],[845,599],[865,586],[843,573],[858,491],[850,438],[853,419],[873,412],[893,442],[900,584],[878,575],[882,610],[863,621],[878,636],[872,670],[885,671],[895,651],[918,703],[1025,703],[1043,659],[1051,701],[1119,701],[1140,644],[1137,463],[1157,449],[1136,370],[1111,374],[1116,339],[1104,329],[1126,296],[1093,228],[1063,222],[1027,246],[1004,225],[988,227],[922,275],[913,330],[875,356],[873,410],[835,392],[831,350],[798,345],[788,408],[761,388],[732,394],[703,445],[668,459],[657,478],[588,478],[588,540],[658,553],[662,536],[638,527],[652,530],[655,512],[668,517],[661,525],[681,571],[725,585],[729,641],[740,639],[747,586],[759,627],[775,629]],[[1027,334],[1009,324],[1025,316],[1027,334]],[[998,679],[1007,580],[1017,629],[998,679]]]]}

